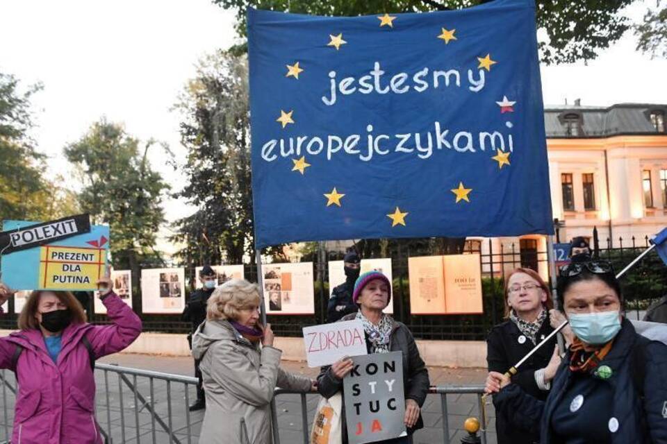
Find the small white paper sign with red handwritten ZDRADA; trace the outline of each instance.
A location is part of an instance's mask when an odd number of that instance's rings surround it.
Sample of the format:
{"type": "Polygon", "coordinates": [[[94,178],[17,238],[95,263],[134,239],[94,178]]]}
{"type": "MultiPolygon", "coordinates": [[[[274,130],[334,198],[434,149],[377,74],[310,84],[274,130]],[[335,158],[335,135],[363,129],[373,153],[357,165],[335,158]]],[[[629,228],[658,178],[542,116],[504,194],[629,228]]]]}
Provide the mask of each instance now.
{"type": "Polygon", "coordinates": [[[308,367],[329,366],[344,356],[365,355],[365,334],[359,319],[304,327],[308,367]]]}

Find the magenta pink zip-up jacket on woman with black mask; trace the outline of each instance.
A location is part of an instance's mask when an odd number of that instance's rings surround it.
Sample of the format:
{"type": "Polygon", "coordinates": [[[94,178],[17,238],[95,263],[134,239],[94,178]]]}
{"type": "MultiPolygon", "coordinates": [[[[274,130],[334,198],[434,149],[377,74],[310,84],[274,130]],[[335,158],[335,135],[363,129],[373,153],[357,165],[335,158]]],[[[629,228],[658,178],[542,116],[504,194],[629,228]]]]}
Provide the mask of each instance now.
{"type": "Polygon", "coordinates": [[[119,352],[141,332],[141,320],[115,293],[102,303],[112,325],[72,324],[53,363],[40,330],[0,338],[0,368],[15,370],[18,392],[13,444],[101,444],[94,416],[95,379],[85,336],[96,358],[119,352]],[[24,348],[14,368],[17,345],[24,348]]]}

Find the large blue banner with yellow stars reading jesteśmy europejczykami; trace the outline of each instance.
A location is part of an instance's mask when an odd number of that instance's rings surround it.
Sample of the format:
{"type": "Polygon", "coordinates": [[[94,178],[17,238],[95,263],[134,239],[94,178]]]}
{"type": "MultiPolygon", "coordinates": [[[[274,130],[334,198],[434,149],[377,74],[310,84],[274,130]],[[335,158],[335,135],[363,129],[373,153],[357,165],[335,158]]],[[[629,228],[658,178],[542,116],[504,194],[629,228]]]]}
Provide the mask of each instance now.
{"type": "Polygon", "coordinates": [[[533,0],[250,9],[248,44],[258,248],[553,232],[533,0]]]}

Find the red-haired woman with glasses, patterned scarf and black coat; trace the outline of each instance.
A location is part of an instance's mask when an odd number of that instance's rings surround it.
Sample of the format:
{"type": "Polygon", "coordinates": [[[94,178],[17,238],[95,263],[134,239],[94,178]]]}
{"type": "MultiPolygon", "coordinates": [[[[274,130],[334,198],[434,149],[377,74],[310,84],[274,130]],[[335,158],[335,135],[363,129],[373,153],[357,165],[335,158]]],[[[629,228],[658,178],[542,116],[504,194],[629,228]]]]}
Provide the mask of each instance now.
{"type": "MultiPolygon", "coordinates": [[[[549,288],[535,271],[516,268],[509,273],[505,280],[505,316],[508,320],[493,327],[486,339],[489,371],[486,393],[500,388],[495,373],[507,372],[554,330],[549,317],[552,306],[549,288]]],[[[550,382],[560,364],[556,339],[550,342],[535,352],[512,377],[512,382],[541,400],[546,399],[550,382]]],[[[539,442],[536,432],[511,425],[509,418],[502,414],[497,414],[495,428],[498,444],[539,442]]]]}

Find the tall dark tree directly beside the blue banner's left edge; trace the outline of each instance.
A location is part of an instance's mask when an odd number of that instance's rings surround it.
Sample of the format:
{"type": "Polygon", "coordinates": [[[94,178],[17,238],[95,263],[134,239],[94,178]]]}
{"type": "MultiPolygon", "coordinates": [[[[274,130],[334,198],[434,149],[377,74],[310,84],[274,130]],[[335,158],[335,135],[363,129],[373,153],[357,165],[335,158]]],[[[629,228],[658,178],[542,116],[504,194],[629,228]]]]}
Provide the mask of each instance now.
{"type": "Polygon", "coordinates": [[[186,266],[240,264],[246,255],[254,261],[247,79],[245,56],[207,56],[175,106],[188,148],[188,185],[177,196],[197,207],[176,221],[172,237],[186,266]]]}

